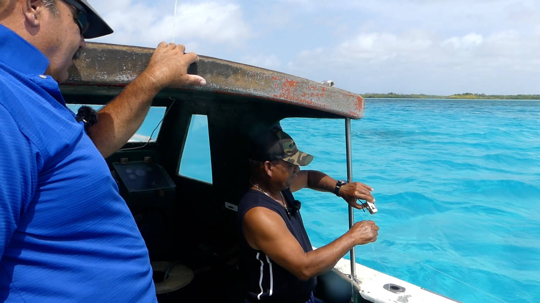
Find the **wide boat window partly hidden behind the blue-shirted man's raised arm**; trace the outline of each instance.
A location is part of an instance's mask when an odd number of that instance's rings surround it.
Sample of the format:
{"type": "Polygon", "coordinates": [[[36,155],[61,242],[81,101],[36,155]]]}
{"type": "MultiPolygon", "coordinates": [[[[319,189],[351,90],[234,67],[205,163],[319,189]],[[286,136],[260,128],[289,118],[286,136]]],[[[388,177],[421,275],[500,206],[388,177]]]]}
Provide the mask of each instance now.
{"type": "MultiPolygon", "coordinates": [[[[90,106],[93,109],[96,109],[98,111],[100,108],[103,107],[103,105],[93,105],[93,104],[68,104],[68,108],[71,109],[74,113],[77,113],[79,110],[79,107],[86,105],[90,106]]],[[[150,142],[156,142],[159,134],[159,130],[161,128],[161,119],[163,119],[163,115],[165,114],[166,107],[163,106],[152,106],[150,107],[150,111],[146,115],[146,118],[143,121],[143,124],[139,127],[137,132],[131,136],[131,139],[128,140],[128,142],[147,142],[150,139],[150,135],[152,135],[152,139],[150,142]],[[154,130],[156,129],[156,130],[154,130]],[[152,134],[153,132],[153,134],[152,134]]]]}

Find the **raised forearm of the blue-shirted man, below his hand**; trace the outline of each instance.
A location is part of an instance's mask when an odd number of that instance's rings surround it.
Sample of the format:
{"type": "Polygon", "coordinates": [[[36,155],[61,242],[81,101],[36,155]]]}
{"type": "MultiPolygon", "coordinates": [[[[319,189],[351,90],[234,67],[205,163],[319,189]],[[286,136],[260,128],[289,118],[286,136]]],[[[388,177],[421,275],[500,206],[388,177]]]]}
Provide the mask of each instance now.
{"type": "Polygon", "coordinates": [[[99,111],[98,122],[88,133],[103,157],[112,155],[137,132],[159,90],[143,72],[99,111]]]}

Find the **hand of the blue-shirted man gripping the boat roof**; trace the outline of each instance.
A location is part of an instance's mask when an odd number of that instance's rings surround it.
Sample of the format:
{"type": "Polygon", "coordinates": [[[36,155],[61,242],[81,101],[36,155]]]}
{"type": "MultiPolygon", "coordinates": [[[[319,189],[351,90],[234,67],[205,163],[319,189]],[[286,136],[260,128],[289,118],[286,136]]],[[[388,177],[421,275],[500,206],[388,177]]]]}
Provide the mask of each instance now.
{"type": "Polygon", "coordinates": [[[206,85],[203,77],[187,73],[187,68],[190,64],[199,61],[199,57],[194,52],[184,53],[185,50],[184,45],[161,42],[142,74],[156,82],[159,89],[206,85]]]}

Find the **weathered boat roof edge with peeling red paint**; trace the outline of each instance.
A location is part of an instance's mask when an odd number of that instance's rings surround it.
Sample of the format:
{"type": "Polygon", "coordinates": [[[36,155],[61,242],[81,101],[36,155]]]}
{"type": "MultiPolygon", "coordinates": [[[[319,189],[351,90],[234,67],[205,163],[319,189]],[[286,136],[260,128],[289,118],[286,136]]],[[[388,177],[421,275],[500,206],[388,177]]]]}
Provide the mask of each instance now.
{"type": "MultiPolygon", "coordinates": [[[[60,88],[68,94],[115,95],[144,70],[153,49],[103,43],[87,43],[87,48],[70,70],[70,78],[60,88]]],[[[282,102],[360,119],[363,98],[343,89],[293,75],[199,56],[189,72],[207,81],[204,87],[169,89],[182,92],[235,95],[282,102]]],[[[170,93],[170,92],[168,92],[170,93]]]]}

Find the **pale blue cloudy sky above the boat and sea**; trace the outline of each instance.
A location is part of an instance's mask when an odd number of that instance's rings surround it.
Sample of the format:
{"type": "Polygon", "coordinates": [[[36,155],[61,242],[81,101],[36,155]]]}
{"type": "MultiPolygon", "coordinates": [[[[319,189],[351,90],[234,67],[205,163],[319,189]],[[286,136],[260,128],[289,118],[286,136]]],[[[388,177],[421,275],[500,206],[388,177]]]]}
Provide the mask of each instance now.
{"type": "Polygon", "coordinates": [[[156,47],[333,80],[354,93],[540,94],[538,0],[89,0],[156,47]]]}

